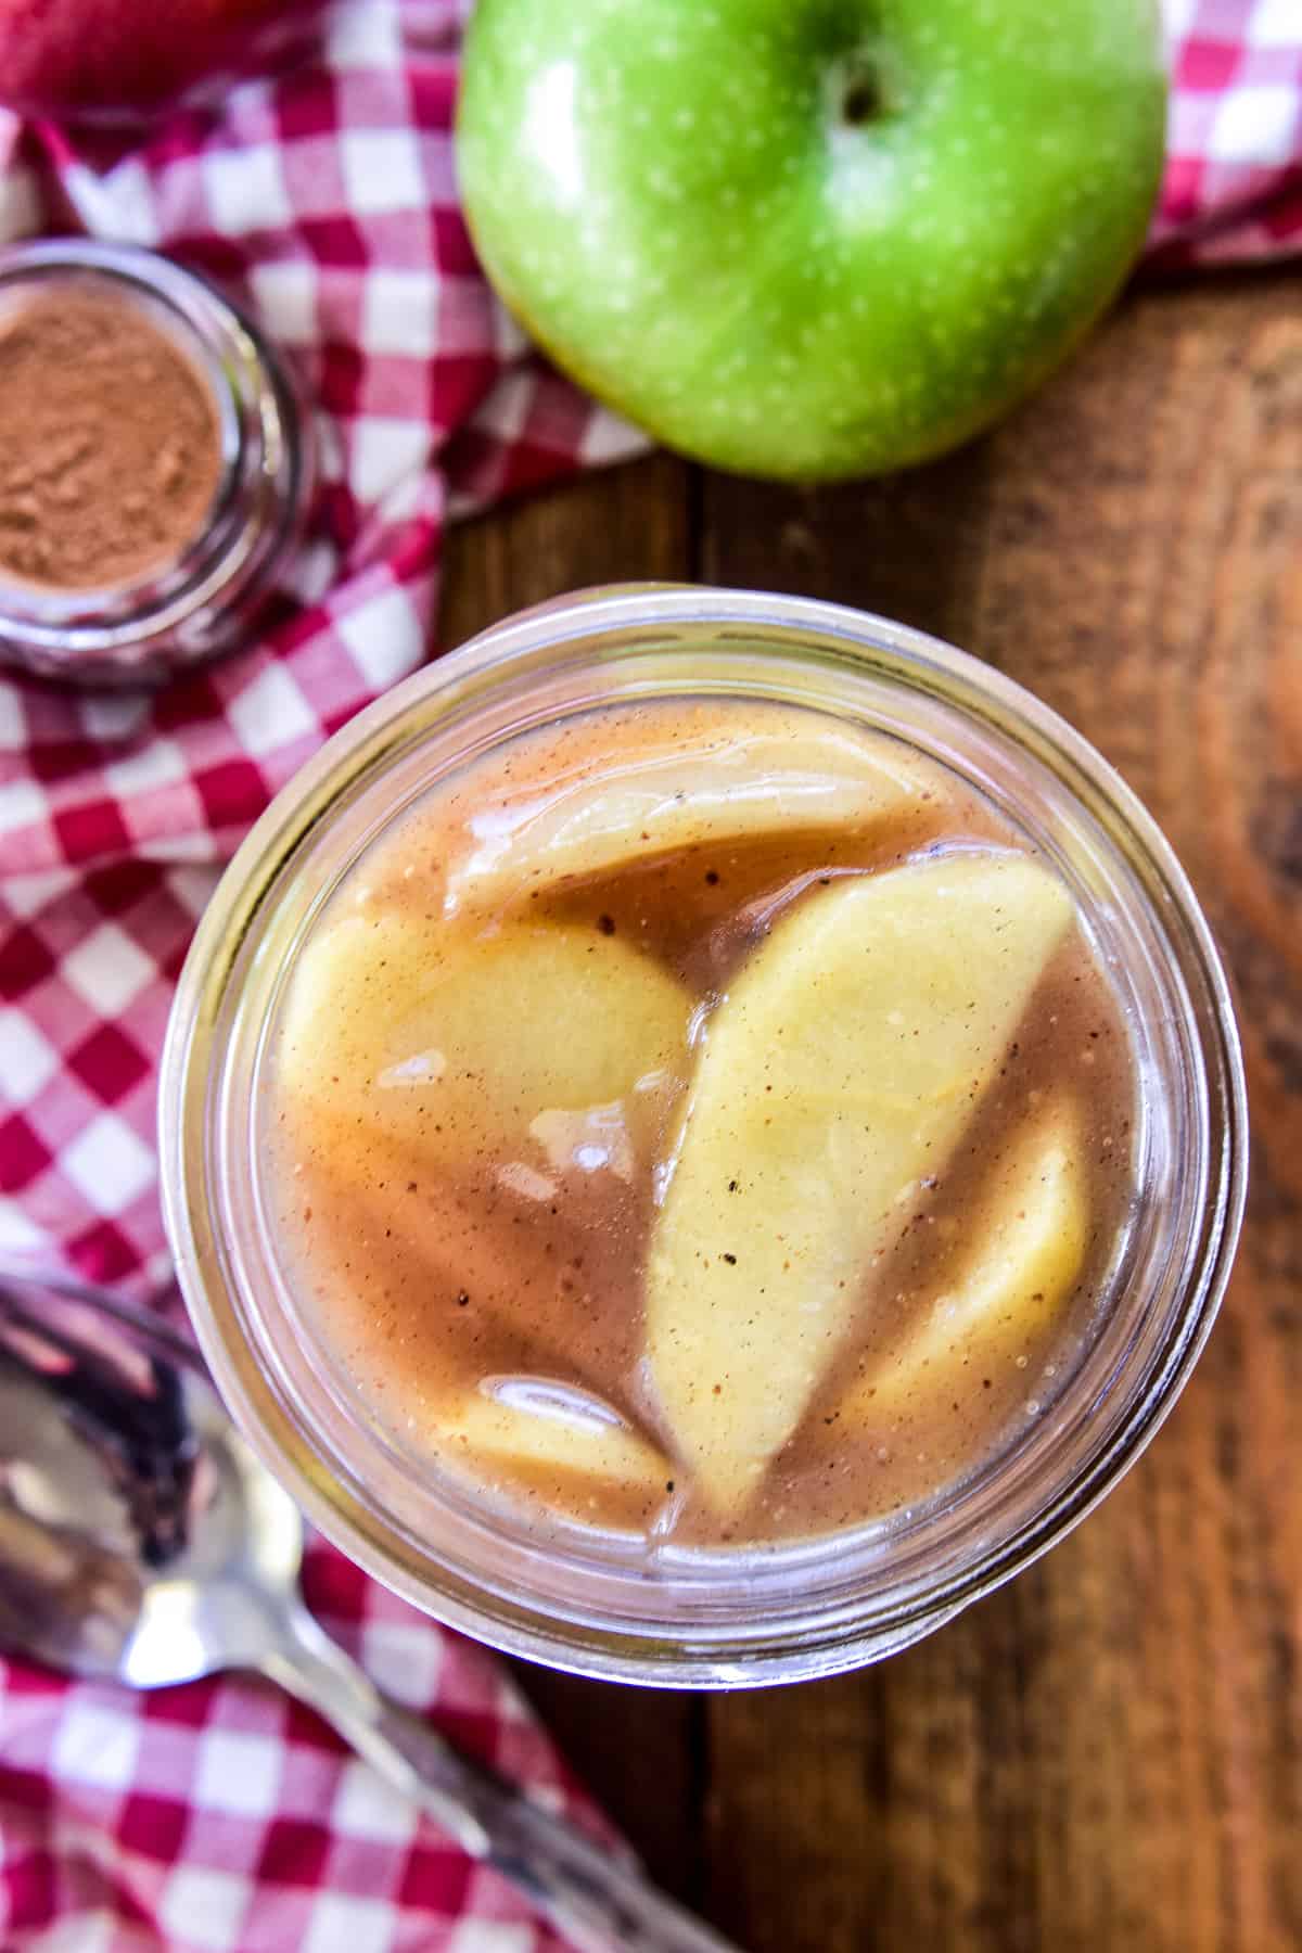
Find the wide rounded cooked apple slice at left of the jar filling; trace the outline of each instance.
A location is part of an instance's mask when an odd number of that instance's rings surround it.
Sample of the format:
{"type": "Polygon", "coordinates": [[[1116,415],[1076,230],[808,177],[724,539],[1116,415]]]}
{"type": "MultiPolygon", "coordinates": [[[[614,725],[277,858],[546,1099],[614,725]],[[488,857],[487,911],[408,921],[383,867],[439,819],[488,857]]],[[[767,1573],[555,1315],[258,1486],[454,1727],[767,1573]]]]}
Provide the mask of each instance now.
{"type": "MultiPolygon", "coordinates": [[[[426,1160],[525,1144],[681,1070],[691,996],[623,939],[513,924],[467,935],[400,910],[310,941],[285,1010],[285,1092],[357,1113],[426,1160]]],[[[607,1123],[609,1123],[607,1121],[607,1123]]],[[[523,1154],[521,1154],[523,1156],[523,1154]]]]}

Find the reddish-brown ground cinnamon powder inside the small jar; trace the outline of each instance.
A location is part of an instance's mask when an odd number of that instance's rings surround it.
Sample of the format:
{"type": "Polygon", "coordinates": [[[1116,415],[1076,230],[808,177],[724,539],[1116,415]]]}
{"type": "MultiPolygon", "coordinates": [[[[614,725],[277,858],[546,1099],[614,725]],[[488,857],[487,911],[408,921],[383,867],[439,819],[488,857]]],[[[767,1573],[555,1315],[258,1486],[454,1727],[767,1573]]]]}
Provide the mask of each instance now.
{"type": "Polygon", "coordinates": [[[207,527],[217,402],[144,309],[37,291],[0,314],[0,580],[131,584],[207,527]]]}

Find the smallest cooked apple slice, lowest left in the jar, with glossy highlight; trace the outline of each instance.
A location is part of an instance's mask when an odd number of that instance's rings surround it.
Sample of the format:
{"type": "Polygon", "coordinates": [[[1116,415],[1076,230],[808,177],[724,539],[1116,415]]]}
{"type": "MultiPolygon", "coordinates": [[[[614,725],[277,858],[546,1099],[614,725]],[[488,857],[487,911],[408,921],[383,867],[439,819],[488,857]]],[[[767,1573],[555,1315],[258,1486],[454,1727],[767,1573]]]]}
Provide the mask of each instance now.
{"type": "Polygon", "coordinates": [[[437,1418],[439,1449],[470,1471],[506,1467],[539,1490],[556,1478],[666,1494],[673,1467],[601,1398],[570,1383],[494,1377],[437,1418]]]}

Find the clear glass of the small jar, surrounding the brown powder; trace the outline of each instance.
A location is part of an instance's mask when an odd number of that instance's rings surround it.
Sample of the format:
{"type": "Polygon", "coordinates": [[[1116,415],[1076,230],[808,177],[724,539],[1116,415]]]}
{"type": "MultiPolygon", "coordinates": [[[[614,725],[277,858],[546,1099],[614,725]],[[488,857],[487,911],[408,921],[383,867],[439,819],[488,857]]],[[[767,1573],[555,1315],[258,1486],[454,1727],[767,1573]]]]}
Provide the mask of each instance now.
{"type": "Polygon", "coordinates": [[[310,418],[258,328],[168,258],[84,238],[0,252],[0,322],[78,293],[127,309],[182,355],[215,418],[217,480],[199,525],[123,582],[59,588],[0,568],[0,660],[86,686],[152,684],[232,648],[271,594],[310,498],[310,418]]]}

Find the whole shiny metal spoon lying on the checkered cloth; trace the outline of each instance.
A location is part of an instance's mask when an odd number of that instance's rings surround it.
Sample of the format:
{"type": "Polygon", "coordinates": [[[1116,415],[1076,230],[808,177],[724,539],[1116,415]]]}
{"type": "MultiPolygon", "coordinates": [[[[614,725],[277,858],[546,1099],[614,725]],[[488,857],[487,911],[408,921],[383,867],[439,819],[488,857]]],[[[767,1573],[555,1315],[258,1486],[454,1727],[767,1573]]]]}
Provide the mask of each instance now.
{"type": "Polygon", "coordinates": [[[582,1953],[736,1953],[388,1701],[303,1605],[301,1560],[297,1506],[182,1338],[0,1269],[0,1644],[141,1689],[258,1670],[582,1953]]]}

